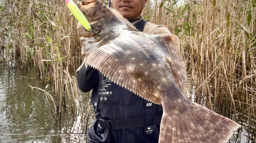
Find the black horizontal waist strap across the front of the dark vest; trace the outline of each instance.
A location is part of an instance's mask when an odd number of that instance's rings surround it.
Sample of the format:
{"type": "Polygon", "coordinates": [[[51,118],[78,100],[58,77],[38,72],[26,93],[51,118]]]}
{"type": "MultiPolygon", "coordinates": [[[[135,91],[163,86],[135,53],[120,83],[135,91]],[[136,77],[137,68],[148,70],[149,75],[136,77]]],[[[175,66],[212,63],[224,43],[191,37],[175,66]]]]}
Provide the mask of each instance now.
{"type": "MultiPolygon", "coordinates": [[[[162,115],[154,116],[154,125],[160,124],[162,115]]],[[[126,120],[104,120],[99,118],[99,123],[102,128],[105,129],[127,129],[127,128],[136,128],[144,127],[145,118],[134,118],[126,120]]]]}

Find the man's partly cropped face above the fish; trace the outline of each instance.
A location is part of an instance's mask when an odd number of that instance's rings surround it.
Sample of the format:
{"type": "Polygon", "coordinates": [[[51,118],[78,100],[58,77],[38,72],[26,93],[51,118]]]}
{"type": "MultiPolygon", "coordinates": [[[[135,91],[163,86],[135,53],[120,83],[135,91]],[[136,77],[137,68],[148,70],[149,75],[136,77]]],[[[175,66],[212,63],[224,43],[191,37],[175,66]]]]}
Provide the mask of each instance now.
{"type": "Polygon", "coordinates": [[[111,0],[113,8],[117,9],[126,19],[140,18],[147,0],[111,0]]]}

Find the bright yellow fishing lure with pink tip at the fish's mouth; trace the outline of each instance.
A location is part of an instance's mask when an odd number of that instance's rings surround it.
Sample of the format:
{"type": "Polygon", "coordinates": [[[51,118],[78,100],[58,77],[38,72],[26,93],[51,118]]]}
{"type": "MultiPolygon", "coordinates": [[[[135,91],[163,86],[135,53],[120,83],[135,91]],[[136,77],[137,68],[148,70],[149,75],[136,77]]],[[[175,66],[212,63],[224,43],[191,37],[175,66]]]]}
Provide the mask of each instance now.
{"type": "Polygon", "coordinates": [[[91,31],[91,26],[88,20],[86,19],[85,15],[81,12],[81,10],[76,6],[73,0],[66,0],[66,5],[75,18],[81,23],[81,25],[88,31],[91,31]]]}

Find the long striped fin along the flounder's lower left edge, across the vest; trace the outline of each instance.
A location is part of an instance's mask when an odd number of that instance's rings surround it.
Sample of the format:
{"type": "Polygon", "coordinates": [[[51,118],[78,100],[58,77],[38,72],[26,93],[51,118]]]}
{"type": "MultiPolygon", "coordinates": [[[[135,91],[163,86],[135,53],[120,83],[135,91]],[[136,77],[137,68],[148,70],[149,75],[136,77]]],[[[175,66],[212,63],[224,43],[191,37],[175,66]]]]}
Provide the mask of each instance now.
{"type": "Polygon", "coordinates": [[[155,104],[161,104],[160,97],[154,96],[153,91],[149,90],[142,81],[129,73],[115,58],[100,49],[88,55],[85,65],[99,70],[109,80],[132,91],[136,95],[155,104]]]}

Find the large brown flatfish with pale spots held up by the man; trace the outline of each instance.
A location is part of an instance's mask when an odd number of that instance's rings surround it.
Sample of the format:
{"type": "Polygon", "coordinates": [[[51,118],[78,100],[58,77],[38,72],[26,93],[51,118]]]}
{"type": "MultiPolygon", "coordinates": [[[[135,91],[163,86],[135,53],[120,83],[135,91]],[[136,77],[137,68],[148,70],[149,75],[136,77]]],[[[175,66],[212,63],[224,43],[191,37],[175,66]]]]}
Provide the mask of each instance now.
{"type": "Polygon", "coordinates": [[[98,0],[83,0],[78,6],[99,32],[78,26],[85,65],[138,96],[162,104],[159,142],[227,142],[240,127],[185,96],[186,71],[177,36],[139,32],[98,0]]]}

